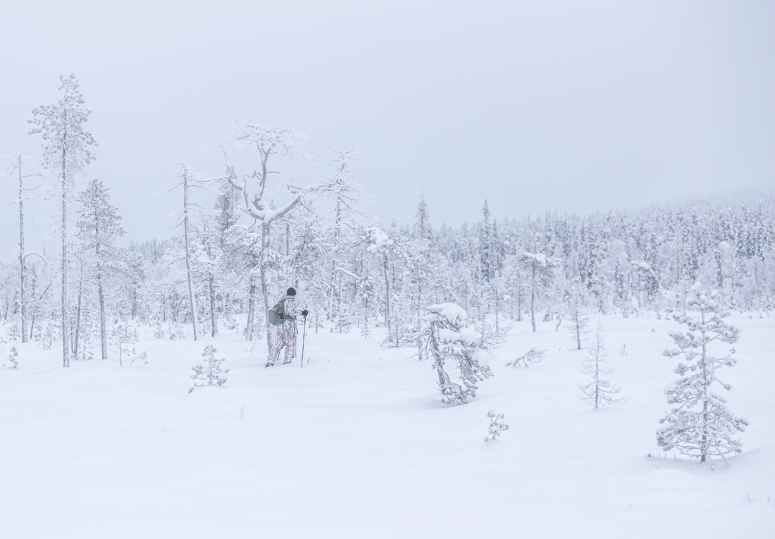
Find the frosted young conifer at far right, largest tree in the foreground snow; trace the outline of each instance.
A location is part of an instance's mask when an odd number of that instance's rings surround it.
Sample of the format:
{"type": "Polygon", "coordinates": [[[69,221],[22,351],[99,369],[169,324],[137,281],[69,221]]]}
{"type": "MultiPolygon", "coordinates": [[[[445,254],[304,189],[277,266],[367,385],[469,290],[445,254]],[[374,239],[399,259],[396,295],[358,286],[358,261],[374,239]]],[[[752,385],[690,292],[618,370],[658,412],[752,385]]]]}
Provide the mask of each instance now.
{"type": "Polygon", "coordinates": [[[709,350],[713,343],[734,344],[739,339],[739,330],[725,323],[725,316],[729,313],[719,305],[718,294],[702,292],[695,284],[687,299],[687,314],[675,316],[687,330],[670,333],[676,347],[664,352],[668,358],[683,354],[686,363],[678,364],[675,371],[680,378],[665,390],[673,409],[660,419],[664,426],[656,431],[656,443],[666,451],[699,457],[701,462],[742,452],[742,442],[735,436],[748,425],[730,413],[726,399],[712,389],[715,382],[732,389],[716,378],[716,371],[737,363],[734,348],[722,358],[709,350]]]}

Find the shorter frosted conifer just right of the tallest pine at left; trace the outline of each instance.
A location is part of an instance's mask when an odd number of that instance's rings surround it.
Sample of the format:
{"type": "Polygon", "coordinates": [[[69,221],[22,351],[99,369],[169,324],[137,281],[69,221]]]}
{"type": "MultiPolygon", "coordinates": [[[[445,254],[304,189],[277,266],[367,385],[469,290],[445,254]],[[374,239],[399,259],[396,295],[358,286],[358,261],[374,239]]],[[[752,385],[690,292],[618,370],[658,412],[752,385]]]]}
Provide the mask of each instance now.
{"type": "Polygon", "coordinates": [[[121,217],[110,203],[108,188],[102,181],[92,180],[77,197],[81,208],[78,213],[78,237],[83,247],[91,251],[94,267],[89,275],[95,278],[99,304],[100,350],[102,359],[108,358],[108,331],[105,329],[105,271],[115,266],[119,257],[115,240],[124,235],[119,224],[121,217]]]}

